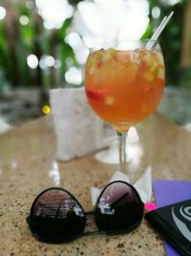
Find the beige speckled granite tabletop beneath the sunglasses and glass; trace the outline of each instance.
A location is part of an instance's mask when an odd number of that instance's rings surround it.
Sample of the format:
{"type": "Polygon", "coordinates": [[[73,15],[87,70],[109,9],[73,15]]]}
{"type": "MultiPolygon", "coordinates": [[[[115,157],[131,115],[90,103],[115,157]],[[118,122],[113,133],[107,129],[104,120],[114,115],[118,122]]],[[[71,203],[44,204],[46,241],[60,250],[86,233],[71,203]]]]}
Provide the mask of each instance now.
{"type": "MultiPolygon", "coordinates": [[[[162,240],[146,221],[129,233],[83,237],[70,244],[43,244],[31,235],[26,217],[33,198],[54,186],[57,163],[60,186],[91,210],[91,186],[103,187],[116,166],[101,164],[94,154],[56,162],[51,118],[41,118],[0,136],[0,256],[162,256],[162,240]]],[[[133,165],[132,179],[152,164],[153,178],[191,179],[191,133],[158,114],[137,126],[143,155],[133,165]]]]}

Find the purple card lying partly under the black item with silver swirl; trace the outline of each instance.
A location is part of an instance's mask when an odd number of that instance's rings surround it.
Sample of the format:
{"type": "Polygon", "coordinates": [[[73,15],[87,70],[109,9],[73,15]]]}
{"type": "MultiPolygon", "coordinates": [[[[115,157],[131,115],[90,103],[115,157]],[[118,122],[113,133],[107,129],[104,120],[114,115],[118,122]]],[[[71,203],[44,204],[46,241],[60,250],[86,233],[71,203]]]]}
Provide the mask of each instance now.
{"type": "MultiPolygon", "coordinates": [[[[158,207],[176,203],[191,198],[191,181],[154,180],[153,190],[158,207]]],[[[167,242],[165,250],[167,256],[180,256],[180,253],[167,242]]]]}

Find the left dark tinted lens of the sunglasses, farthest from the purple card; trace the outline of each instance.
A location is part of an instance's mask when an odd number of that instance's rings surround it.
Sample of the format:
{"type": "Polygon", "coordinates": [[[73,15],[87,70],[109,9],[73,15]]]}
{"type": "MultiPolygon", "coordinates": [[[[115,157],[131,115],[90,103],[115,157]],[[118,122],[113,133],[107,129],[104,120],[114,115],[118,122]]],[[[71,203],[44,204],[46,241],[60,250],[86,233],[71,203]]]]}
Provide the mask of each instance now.
{"type": "Polygon", "coordinates": [[[62,189],[49,189],[32,204],[32,233],[45,242],[59,243],[78,236],[85,227],[85,214],[76,199],[62,189]]]}

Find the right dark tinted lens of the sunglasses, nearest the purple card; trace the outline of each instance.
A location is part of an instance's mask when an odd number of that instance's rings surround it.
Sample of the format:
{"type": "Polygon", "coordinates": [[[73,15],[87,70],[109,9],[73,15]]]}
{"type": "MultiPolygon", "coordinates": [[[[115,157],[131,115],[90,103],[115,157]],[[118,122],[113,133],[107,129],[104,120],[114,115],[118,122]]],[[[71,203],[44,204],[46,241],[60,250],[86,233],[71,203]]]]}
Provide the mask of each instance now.
{"type": "Polygon", "coordinates": [[[130,231],[143,217],[143,203],[128,183],[109,184],[96,203],[96,225],[107,232],[130,231]]]}

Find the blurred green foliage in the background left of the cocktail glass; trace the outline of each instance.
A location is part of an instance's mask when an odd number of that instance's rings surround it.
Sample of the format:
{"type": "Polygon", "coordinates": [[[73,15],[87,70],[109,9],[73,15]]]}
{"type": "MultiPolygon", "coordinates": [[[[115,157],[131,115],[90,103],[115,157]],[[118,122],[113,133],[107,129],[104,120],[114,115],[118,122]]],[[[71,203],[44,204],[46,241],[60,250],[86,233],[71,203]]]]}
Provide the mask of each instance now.
{"type": "Polygon", "coordinates": [[[73,18],[66,19],[60,29],[46,30],[42,18],[35,8],[31,10],[26,7],[26,1],[0,1],[1,5],[8,10],[8,17],[0,20],[0,86],[3,78],[4,83],[7,81],[14,87],[37,86],[46,89],[64,84],[64,74],[68,69],[65,60],[73,58],[74,65],[77,65],[73,49],[64,41],[73,18]],[[28,25],[19,23],[21,15],[29,18],[28,25]],[[6,22],[6,19],[10,19],[10,22],[6,22]],[[43,56],[59,59],[61,67],[41,69],[38,65],[36,69],[31,69],[27,57],[32,54],[38,59],[43,56]]]}

